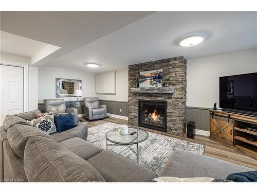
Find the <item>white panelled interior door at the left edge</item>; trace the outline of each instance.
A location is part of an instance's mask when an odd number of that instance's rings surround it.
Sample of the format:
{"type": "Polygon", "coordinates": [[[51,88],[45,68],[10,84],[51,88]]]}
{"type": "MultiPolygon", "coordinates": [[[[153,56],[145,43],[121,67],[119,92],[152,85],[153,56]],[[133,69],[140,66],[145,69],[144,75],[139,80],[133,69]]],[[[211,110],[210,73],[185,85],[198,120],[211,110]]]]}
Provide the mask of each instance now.
{"type": "Polygon", "coordinates": [[[0,125],[6,115],[24,112],[23,67],[0,65],[0,125]]]}

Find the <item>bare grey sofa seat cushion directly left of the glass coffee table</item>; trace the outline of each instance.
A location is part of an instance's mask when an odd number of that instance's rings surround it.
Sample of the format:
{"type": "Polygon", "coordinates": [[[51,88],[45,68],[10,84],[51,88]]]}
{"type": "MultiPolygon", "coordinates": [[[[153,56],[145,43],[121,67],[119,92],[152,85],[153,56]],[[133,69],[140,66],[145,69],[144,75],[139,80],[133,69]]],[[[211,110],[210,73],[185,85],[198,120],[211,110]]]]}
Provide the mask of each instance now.
{"type": "Polygon", "coordinates": [[[76,155],[82,157],[84,160],[87,160],[104,150],[100,147],[90,144],[89,142],[86,142],[84,139],[79,137],[67,139],[61,142],[61,144],[68,148],[70,151],[74,152],[76,155]]]}

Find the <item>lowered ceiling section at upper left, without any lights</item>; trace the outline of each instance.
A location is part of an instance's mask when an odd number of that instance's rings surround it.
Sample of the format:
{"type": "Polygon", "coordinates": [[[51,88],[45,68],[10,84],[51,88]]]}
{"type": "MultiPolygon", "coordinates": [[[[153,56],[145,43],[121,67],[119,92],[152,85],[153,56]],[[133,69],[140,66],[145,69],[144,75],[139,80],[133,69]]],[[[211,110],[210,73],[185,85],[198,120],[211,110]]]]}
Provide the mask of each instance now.
{"type": "Polygon", "coordinates": [[[61,47],[34,64],[40,66],[151,13],[153,12],[2,11],[1,30],[61,47]]]}

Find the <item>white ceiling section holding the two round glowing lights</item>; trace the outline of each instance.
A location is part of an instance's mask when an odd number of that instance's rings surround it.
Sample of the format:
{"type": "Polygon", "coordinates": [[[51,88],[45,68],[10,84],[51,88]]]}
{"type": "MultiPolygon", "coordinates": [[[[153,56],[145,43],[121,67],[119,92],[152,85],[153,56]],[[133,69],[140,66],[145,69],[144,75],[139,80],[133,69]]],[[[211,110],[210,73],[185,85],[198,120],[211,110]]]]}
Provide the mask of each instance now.
{"type": "Polygon", "coordinates": [[[124,69],[127,65],[185,56],[187,59],[257,48],[257,12],[155,12],[76,49],[48,66],[88,72],[124,69]],[[190,35],[205,41],[179,46],[190,35]],[[90,69],[83,63],[99,63],[90,69]]]}

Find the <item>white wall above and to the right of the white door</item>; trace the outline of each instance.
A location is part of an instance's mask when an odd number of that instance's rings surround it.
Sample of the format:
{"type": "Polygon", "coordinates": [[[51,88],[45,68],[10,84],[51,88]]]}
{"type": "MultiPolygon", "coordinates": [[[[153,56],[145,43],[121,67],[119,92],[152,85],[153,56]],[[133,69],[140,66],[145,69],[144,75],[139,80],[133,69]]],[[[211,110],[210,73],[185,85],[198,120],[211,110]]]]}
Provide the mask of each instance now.
{"type": "MultiPolygon", "coordinates": [[[[30,58],[9,54],[5,52],[0,53],[0,63],[2,64],[28,64],[28,110],[38,109],[38,67],[30,66],[30,58]]],[[[26,74],[26,73],[25,73],[26,74]]],[[[26,77],[24,79],[27,80],[26,77]]],[[[26,100],[26,99],[25,99],[26,100]]]]}

